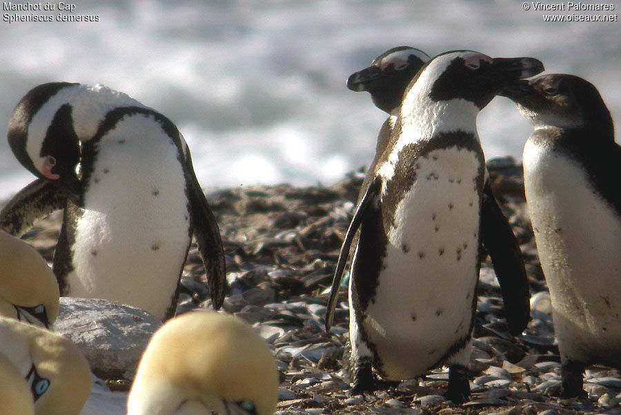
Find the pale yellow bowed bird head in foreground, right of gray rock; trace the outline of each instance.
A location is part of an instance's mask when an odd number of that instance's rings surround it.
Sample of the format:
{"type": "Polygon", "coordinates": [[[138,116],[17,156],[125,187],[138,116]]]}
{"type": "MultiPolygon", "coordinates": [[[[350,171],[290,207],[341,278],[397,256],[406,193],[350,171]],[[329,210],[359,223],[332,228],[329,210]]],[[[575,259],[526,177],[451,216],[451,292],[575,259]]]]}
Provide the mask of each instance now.
{"type": "Polygon", "coordinates": [[[152,337],[128,415],[273,414],[278,385],[273,353],[249,325],[216,312],[189,312],[152,337]]]}

